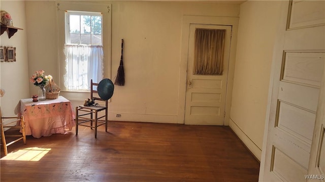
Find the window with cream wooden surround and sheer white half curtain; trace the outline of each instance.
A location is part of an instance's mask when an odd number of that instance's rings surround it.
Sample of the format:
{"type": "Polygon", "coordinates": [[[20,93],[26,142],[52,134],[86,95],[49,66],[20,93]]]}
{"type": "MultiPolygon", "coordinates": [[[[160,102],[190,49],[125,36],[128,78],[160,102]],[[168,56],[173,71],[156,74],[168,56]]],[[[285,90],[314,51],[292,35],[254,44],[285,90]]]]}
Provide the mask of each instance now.
{"type": "Polygon", "coordinates": [[[57,84],[62,94],[69,91],[66,97],[83,101],[89,97],[90,79],[111,78],[112,5],[56,1],[56,6],[57,84]]]}

